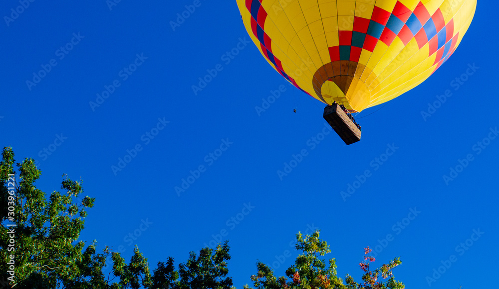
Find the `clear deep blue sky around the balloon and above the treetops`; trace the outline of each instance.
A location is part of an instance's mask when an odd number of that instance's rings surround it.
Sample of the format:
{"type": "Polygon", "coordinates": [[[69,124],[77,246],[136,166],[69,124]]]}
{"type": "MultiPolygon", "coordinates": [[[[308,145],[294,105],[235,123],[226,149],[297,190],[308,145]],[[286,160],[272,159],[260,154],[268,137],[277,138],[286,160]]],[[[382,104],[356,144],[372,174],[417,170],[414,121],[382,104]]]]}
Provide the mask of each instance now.
{"type": "MultiPolygon", "coordinates": [[[[105,0],[36,0],[0,24],[1,145],[12,146],[18,162],[38,161],[37,184],[47,193],[60,188],[63,173],[81,177],[84,194],[96,198],[83,240],[123,246],[126,260],[129,244],[137,244],[155,268],[168,256],[186,261],[226,230],[230,275],[242,288],[257,259],[275,262],[283,275],[296,256],[290,241],[317,227],[341,278],[360,280],[363,248],[381,242],[375,264],[400,256],[395,276],[407,288],[427,288],[442,261],[450,268],[431,288],[490,286],[497,276],[490,262],[499,258],[492,250],[499,138],[488,139],[499,126],[491,16],[498,3],[478,3],[461,45],[426,82],[371,115],[380,106],[363,111],[362,140],[350,146],[335,133],[319,134],[324,105],[289,86],[252,43],[224,56],[250,40],[235,1],[201,0],[174,31],[170,21],[192,3],[122,0],[110,9],[105,0]],[[192,86],[217,65],[195,95],[192,86]],[[469,65],[478,68],[464,77],[469,65]],[[49,72],[39,73],[42,66],[49,72]],[[467,80],[458,87],[461,77],[467,80]],[[106,87],[112,93],[92,109],[106,87]],[[258,115],[255,106],[279,88],[258,115]],[[452,96],[424,119],[421,112],[446,90],[452,96]],[[383,155],[390,146],[394,153],[383,155]],[[277,171],[302,150],[306,156],[281,180],[277,171]],[[467,156],[446,184],[443,176],[467,156]],[[129,162],[113,171],[119,158],[129,162]],[[174,188],[200,166],[179,196],[174,188]],[[365,182],[354,183],[366,170],[365,182]],[[344,200],[349,184],[357,189],[344,200]],[[291,257],[275,257],[286,250],[291,257]]],[[[19,5],[2,1],[1,16],[19,5]]]]}

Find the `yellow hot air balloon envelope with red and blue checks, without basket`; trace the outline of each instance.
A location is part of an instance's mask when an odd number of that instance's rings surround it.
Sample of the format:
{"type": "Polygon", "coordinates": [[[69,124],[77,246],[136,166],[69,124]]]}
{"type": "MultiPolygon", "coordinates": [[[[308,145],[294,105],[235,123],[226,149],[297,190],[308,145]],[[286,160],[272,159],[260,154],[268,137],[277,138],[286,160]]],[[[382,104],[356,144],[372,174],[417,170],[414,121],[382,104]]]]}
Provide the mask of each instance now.
{"type": "Polygon", "coordinates": [[[318,100],[361,111],[411,90],[456,50],[477,0],[237,0],[268,63],[318,100]]]}

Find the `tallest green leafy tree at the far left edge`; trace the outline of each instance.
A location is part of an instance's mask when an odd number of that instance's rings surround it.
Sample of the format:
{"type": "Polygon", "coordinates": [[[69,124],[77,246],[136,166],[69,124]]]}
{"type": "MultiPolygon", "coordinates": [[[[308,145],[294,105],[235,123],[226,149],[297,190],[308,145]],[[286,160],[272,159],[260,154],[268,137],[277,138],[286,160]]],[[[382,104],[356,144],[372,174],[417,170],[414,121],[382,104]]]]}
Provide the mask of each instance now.
{"type": "Polygon", "coordinates": [[[5,283],[12,277],[6,272],[7,263],[13,256],[15,276],[10,280],[15,279],[17,288],[56,288],[62,280],[75,278],[79,273],[74,269],[83,256],[84,243],[76,243],[76,240],[83,229],[85,208],[92,207],[94,199],[86,196],[79,205],[73,203],[73,198],[83,189],[81,181],[73,181],[66,175],[63,175],[60,187],[63,191],[54,191],[46,199],[45,193],[34,185],[41,175],[34,161],[25,159],[16,166],[17,174],[12,149],[4,148],[0,163],[3,185],[0,198],[3,204],[8,203],[14,209],[12,213],[7,206],[2,206],[0,247],[7,249],[8,242],[13,239],[15,251],[0,251],[1,281],[5,283]],[[15,183],[9,180],[9,174],[15,174],[15,183]],[[8,193],[7,185],[15,187],[13,196],[8,193]],[[6,223],[15,223],[15,227],[8,227],[6,223]]]}

